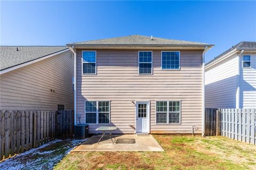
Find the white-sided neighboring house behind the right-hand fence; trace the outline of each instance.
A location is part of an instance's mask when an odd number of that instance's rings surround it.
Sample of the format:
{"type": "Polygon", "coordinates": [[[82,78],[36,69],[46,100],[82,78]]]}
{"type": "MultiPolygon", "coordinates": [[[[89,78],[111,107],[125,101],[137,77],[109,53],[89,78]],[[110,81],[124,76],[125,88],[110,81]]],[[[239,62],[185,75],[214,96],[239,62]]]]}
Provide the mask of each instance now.
{"type": "Polygon", "coordinates": [[[256,107],[256,42],[242,41],[205,65],[205,107],[256,107]]]}

